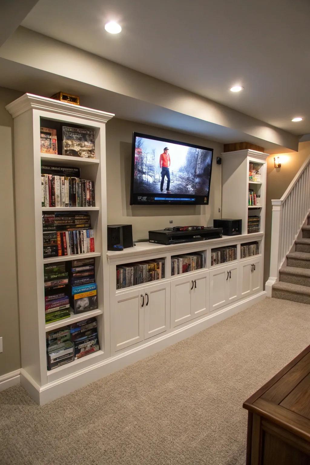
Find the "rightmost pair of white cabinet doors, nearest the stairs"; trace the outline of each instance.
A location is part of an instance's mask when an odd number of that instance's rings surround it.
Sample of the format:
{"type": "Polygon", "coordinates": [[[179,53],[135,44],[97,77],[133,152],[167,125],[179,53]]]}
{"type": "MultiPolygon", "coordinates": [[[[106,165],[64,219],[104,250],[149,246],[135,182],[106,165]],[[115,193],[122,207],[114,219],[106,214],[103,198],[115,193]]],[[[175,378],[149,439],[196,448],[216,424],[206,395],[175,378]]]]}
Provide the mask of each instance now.
{"type": "Polygon", "coordinates": [[[262,259],[261,257],[252,257],[239,265],[240,267],[240,282],[241,282],[241,297],[258,292],[261,285],[262,259]]]}

